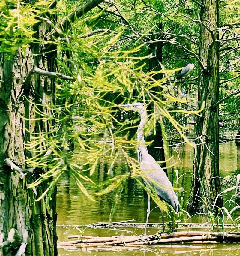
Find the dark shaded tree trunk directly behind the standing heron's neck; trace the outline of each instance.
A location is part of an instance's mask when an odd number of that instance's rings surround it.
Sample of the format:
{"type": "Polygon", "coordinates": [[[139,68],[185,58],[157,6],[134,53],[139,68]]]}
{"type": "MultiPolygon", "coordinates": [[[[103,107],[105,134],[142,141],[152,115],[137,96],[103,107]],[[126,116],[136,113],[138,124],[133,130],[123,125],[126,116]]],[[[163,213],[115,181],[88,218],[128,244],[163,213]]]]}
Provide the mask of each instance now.
{"type": "MultiPolygon", "coordinates": [[[[162,23],[159,24],[159,29],[162,30],[162,23]]],[[[155,38],[156,35],[151,38],[155,38]]],[[[157,36],[159,37],[159,35],[157,36]]],[[[161,36],[160,36],[161,37],[161,36]]],[[[155,58],[149,59],[149,71],[154,70],[154,71],[160,71],[161,66],[159,65],[159,62],[163,63],[163,43],[157,43],[157,44],[150,44],[149,46],[149,53],[154,53],[156,55],[155,58]]],[[[155,80],[161,80],[163,78],[163,73],[158,73],[154,75],[155,80]]],[[[152,88],[153,91],[155,92],[161,92],[162,87],[157,86],[152,88]]],[[[162,96],[161,96],[162,100],[162,96]]],[[[151,106],[153,109],[154,106],[151,106]]],[[[164,153],[164,142],[163,142],[163,136],[162,136],[162,130],[161,130],[161,125],[159,122],[156,122],[156,134],[149,135],[147,137],[148,141],[153,141],[151,145],[148,146],[148,151],[149,154],[153,156],[153,158],[156,161],[165,161],[165,153],[164,153]],[[158,147],[158,148],[156,148],[158,147]],[[161,148],[159,148],[161,147],[161,148]]],[[[166,168],[166,163],[161,163],[161,167],[166,168]]],[[[164,169],[165,173],[167,174],[167,169],[164,169]]]]}

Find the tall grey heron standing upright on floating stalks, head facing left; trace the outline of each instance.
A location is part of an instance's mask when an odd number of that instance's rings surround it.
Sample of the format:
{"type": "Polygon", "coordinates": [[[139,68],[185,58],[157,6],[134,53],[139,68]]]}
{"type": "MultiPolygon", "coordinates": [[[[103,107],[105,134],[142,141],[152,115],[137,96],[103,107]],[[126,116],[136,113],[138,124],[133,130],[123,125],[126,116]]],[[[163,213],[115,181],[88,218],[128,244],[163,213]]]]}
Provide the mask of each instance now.
{"type": "MultiPolygon", "coordinates": [[[[140,124],[137,129],[137,159],[140,163],[141,172],[144,172],[143,181],[146,184],[150,184],[152,187],[156,189],[156,192],[161,200],[164,200],[168,204],[170,204],[175,212],[180,211],[180,205],[178,197],[176,196],[173,185],[168,179],[166,173],[162,169],[162,167],[157,163],[157,161],[148,153],[146,143],[144,140],[144,133],[143,128],[146,125],[147,120],[147,112],[144,108],[142,103],[132,103],[132,104],[125,104],[119,105],[125,110],[132,110],[136,111],[140,114],[140,124]]],[[[147,219],[146,219],[146,226],[144,234],[146,235],[147,231],[147,224],[149,219],[150,213],[150,195],[148,194],[148,209],[147,209],[147,219]]],[[[161,209],[161,207],[160,207],[161,209]]],[[[163,209],[161,209],[162,213],[162,220],[163,220],[163,232],[165,231],[164,225],[164,216],[163,216],[163,209]]]]}

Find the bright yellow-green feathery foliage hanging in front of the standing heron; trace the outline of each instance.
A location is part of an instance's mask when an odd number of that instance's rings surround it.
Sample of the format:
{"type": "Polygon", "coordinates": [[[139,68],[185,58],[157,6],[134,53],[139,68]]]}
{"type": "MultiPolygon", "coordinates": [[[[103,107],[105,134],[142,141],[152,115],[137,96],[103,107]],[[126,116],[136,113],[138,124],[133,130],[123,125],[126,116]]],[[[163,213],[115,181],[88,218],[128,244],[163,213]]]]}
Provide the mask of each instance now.
{"type": "MultiPolygon", "coordinates": [[[[58,71],[75,79],[68,81],[57,78],[52,99],[35,101],[34,94],[32,98],[24,99],[32,106],[31,111],[35,115],[29,118],[26,115],[23,118],[36,127],[31,130],[30,125],[30,130],[27,130],[30,134],[30,140],[26,142],[29,152],[27,164],[37,170],[35,182],[28,184],[28,187],[33,188],[41,182],[49,182],[49,187],[38,198],[42,200],[67,171],[73,176],[82,193],[90,200],[95,200],[95,195],[89,194],[83,181],[90,182],[99,190],[91,180],[91,175],[103,161],[109,162],[110,169],[113,168],[116,157],[121,154],[128,163],[129,173],[108,180],[106,184],[102,184],[101,191],[97,194],[104,195],[117,189],[116,205],[126,180],[131,176],[165,209],[156,192],[151,192],[142,184],[143,175],[139,163],[128,155],[128,150],[137,148],[137,141],[134,138],[126,140],[125,133],[130,126],[137,126],[139,117],[131,115],[128,118],[116,106],[134,101],[142,101],[146,107],[153,105],[153,112],[148,116],[146,133],[155,129],[157,119],[166,118],[184,136],[181,131],[183,127],[172,116],[174,110],[171,113],[168,111],[173,101],[178,100],[167,93],[167,86],[164,85],[167,78],[156,80],[156,74],[162,71],[148,71],[152,55],[148,54],[142,36],[128,37],[131,35],[131,28],[113,24],[114,30],[110,31],[98,22],[100,17],[104,17],[104,11],[92,10],[71,23],[70,30],[64,31],[54,25],[54,15],[59,13],[61,3],[53,10],[43,7],[48,4],[1,2],[1,11],[4,12],[1,19],[4,35],[1,39],[2,51],[13,55],[18,49],[23,55],[30,55],[29,49],[39,47],[43,52],[34,56],[35,60],[46,55],[53,56],[52,52],[57,51],[55,63],[58,71]],[[46,34],[45,38],[41,31],[36,31],[39,23],[46,34]],[[94,29],[98,27],[104,30],[95,33],[94,29]],[[52,29],[58,29],[60,39],[48,35],[52,29]],[[157,97],[154,88],[159,87],[162,92],[157,97]],[[164,95],[164,100],[161,100],[161,94],[164,95]],[[45,131],[43,126],[47,127],[45,131]],[[76,155],[78,159],[75,158],[76,155]]],[[[70,8],[73,7],[76,7],[76,3],[70,8]]],[[[126,19],[130,19],[136,12],[131,12],[129,8],[124,15],[126,19]]],[[[153,20],[155,18],[155,15],[151,17],[153,20]]],[[[151,26],[146,29],[152,30],[151,26]]],[[[171,75],[173,71],[164,72],[171,75]]],[[[185,139],[187,140],[186,137],[185,139]]],[[[111,215],[113,213],[114,207],[111,215]]]]}

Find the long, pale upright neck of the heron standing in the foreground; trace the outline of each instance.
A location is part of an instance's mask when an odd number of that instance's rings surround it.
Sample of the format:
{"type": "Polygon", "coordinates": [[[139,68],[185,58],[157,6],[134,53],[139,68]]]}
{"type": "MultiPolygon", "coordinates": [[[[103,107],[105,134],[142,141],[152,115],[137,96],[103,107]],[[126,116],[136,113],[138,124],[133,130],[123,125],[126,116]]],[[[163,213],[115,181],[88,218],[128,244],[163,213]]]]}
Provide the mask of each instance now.
{"type": "Polygon", "coordinates": [[[146,125],[147,120],[147,113],[145,110],[143,110],[140,113],[141,121],[140,125],[137,129],[137,142],[138,142],[138,148],[137,148],[137,160],[141,163],[143,161],[144,153],[147,153],[147,147],[144,140],[144,134],[143,134],[143,127],[146,125]]]}

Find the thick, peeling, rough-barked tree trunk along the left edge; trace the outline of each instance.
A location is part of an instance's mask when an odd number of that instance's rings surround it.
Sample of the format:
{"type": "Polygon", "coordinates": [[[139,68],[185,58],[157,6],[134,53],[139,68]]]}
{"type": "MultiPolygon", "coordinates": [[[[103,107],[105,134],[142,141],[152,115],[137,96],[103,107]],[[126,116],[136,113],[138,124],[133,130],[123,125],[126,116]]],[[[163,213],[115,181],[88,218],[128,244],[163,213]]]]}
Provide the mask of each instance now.
{"type": "Polygon", "coordinates": [[[44,105],[54,102],[53,79],[44,80],[34,75],[24,82],[33,64],[47,71],[55,70],[55,56],[39,57],[40,48],[38,44],[33,45],[31,51],[19,48],[14,56],[4,53],[0,59],[3,81],[0,87],[0,245],[6,241],[11,228],[15,228],[20,235],[16,245],[10,244],[0,250],[0,255],[4,256],[15,255],[21,243],[23,246],[27,243],[26,255],[57,255],[56,188],[50,200],[49,195],[36,202],[48,184],[42,183],[34,189],[28,189],[26,184],[34,182],[39,172],[44,170],[34,170],[23,176],[17,169],[27,168],[26,157],[30,153],[26,151],[25,143],[29,141],[29,131],[41,129],[44,132],[49,127],[47,122],[32,120],[36,116],[31,101],[42,104],[39,107],[46,114],[49,113],[44,105]],[[36,56],[32,58],[32,54],[36,56]],[[9,167],[5,158],[15,161],[18,167],[9,167]]]}

